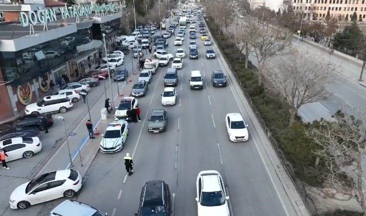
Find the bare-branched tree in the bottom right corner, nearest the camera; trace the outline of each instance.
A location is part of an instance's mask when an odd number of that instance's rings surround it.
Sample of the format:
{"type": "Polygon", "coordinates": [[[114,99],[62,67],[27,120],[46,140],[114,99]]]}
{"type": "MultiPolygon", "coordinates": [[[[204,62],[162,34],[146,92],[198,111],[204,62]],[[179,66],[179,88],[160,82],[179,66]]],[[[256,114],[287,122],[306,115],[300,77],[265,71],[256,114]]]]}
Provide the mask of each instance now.
{"type": "Polygon", "coordinates": [[[326,186],[339,192],[355,194],[365,216],[365,194],[362,188],[365,124],[341,112],[337,112],[334,118],[334,121],[321,120],[318,127],[306,130],[305,135],[321,147],[315,153],[329,170],[326,186]],[[346,170],[351,178],[346,176],[346,170]]]}

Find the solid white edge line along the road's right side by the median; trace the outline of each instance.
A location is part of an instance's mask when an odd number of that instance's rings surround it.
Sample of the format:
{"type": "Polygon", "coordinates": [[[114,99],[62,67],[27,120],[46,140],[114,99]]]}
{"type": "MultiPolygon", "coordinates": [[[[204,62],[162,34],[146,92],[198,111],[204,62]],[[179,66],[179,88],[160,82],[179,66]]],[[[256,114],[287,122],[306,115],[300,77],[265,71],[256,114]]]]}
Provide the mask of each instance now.
{"type": "MultiPolygon", "coordinates": [[[[215,44],[215,43],[214,43],[215,44]]],[[[216,46],[216,44],[215,44],[215,46],[216,46]]],[[[216,48],[217,48],[217,46],[216,46],[216,48]]],[[[223,69],[223,66],[222,66],[222,63],[221,63],[221,56],[220,56],[220,58],[218,59],[218,61],[219,61],[219,64],[220,64],[220,67],[221,67],[221,69],[224,71],[224,69],[223,69]]],[[[225,70],[226,71],[226,70],[225,70]]],[[[226,74],[228,74],[228,71],[226,71],[226,74]]],[[[231,78],[231,77],[230,77],[231,78]]],[[[235,79],[235,77],[234,77],[234,79],[235,79]]],[[[234,81],[235,82],[235,81],[234,81]]],[[[233,90],[233,87],[231,86],[231,85],[229,85],[229,87],[230,87],[230,90],[231,90],[231,92],[232,92],[232,94],[233,94],[233,96],[234,96],[234,99],[235,99],[235,102],[236,102],[236,104],[238,105],[238,107],[239,107],[239,110],[240,110],[240,112],[241,112],[241,114],[243,115],[243,116],[246,116],[246,115],[244,115],[243,113],[243,110],[242,110],[242,108],[240,107],[240,105],[239,105],[239,101],[237,100],[237,97],[235,96],[235,94],[234,94],[234,90],[233,90]]],[[[239,93],[238,93],[239,94],[239,93]]],[[[244,104],[243,104],[243,107],[244,107],[244,104]]],[[[245,119],[245,118],[244,118],[245,119]]],[[[250,129],[249,130],[249,132],[250,133],[252,133],[252,130],[250,129]]],[[[253,133],[254,134],[254,133],[253,133]]],[[[257,136],[259,137],[259,134],[257,133],[257,136]]],[[[280,196],[280,192],[279,192],[279,189],[277,188],[277,186],[275,185],[275,182],[274,182],[274,179],[273,179],[273,177],[270,175],[270,171],[269,171],[269,168],[268,168],[268,166],[267,166],[267,164],[265,163],[265,160],[264,160],[264,157],[263,157],[263,155],[262,155],[262,153],[260,152],[260,150],[259,150],[259,146],[258,146],[258,143],[257,143],[257,141],[256,141],[256,139],[253,139],[253,141],[254,141],[254,144],[256,145],[256,148],[257,148],[257,151],[258,151],[258,154],[259,154],[259,156],[261,157],[261,160],[262,160],[262,163],[263,163],[263,165],[264,165],[264,167],[266,168],[266,171],[267,171],[267,174],[268,174],[268,176],[269,176],[269,178],[271,179],[271,183],[272,183],[272,185],[273,185],[273,187],[275,188],[275,190],[276,190],[276,193],[277,193],[277,197],[280,199],[280,202],[281,202],[281,205],[282,205],[282,207],[283,207],[283,209],[284,209],[284,211],[285,211],[285,213],[286,213],[286,215],[287,216],[290,216],[290,214],[289,214],[289,212],[288,212],[288,210],[287,210],[287,207],[285,206],[285,204],[284,204],[284,201],[283,201],[283,198],[282,198],[282,196],[280,196]]],[[[275,171],[276,172],[276,171],[275,171]]]]}

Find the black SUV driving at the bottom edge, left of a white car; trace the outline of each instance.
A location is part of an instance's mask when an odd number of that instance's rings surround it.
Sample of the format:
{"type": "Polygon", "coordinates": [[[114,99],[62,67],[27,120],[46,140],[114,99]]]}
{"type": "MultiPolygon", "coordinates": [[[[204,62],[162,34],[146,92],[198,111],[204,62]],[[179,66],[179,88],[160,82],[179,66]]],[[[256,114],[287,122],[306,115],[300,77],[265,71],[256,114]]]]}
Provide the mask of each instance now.
{"type": "Polygon", "coordinates": [[[146,182],[135,216],[171,216],[172,212],[169,186],[161,180],[146,182]]]}

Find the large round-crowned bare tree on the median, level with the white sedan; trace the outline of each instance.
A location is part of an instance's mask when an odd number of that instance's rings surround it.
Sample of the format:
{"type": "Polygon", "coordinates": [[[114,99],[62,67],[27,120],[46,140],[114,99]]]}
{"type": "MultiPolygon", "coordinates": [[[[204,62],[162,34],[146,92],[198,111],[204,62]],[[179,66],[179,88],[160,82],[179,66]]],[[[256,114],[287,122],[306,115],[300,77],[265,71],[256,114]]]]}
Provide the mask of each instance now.
{"type": "Polygon", "coordinates": [[[301,106],[329,98],[325,85],[330,75],[318,60],[292,50],[289,58],[281,58],[277,65],[267,68],[264,83],[270,92],[289,104],[291,127],[301,106]]]}

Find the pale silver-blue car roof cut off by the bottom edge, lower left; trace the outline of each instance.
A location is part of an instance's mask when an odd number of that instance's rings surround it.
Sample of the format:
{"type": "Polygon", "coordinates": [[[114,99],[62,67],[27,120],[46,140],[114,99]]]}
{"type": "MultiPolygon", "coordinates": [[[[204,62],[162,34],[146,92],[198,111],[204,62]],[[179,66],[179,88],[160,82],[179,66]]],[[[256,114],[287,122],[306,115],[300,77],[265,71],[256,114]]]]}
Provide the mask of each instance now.
{"type": "Polygon", "coordinates": [[[74,200],[65,200],[54,208],[51,216],[92,216],[97,210],[93,207],[74,200]]]}

